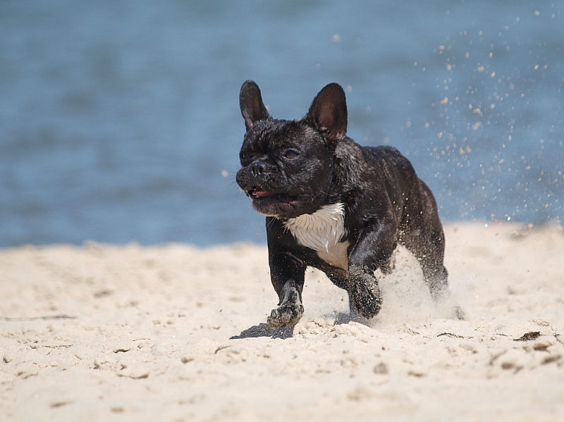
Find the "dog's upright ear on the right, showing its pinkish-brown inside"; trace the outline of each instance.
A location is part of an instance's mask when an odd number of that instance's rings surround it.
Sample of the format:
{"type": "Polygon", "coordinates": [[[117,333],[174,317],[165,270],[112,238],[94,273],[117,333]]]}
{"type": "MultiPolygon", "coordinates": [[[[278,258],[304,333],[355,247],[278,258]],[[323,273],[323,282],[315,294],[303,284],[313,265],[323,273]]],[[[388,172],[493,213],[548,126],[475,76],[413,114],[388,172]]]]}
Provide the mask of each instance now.
{"type": "Polygon", "coordinates": [[[309,106],[304,120],[326,136],[338,141],[347,134],[347,100],[341,85],[326,85],[309,106]]]}

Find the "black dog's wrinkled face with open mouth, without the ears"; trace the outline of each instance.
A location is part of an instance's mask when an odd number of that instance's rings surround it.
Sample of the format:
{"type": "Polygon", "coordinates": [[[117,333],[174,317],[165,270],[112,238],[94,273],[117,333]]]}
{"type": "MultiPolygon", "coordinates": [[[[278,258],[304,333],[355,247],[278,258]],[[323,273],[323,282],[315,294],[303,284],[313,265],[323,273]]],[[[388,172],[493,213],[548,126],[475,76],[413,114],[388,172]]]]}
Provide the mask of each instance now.
{"type": "Polygon", "coordinates": [[[245,134],[236,180],[264,216],[295,218],[324,204],[333,155],[302,121],[264,120],[245,134]]]}

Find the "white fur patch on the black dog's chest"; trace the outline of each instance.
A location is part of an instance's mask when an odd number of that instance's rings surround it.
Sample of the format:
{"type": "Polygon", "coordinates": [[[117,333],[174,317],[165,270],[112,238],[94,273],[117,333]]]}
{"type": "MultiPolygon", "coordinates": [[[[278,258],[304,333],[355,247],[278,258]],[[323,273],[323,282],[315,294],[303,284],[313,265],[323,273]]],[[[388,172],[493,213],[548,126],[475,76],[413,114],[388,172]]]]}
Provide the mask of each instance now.
{"type": "Polygon", "coordinates": [[[322,206],[312,214],[304,214],[284,222],[295,240],[317,252],[326,263],[348,270],[348,242],[345,235],[345,206],[341,203],[322,206]]]}

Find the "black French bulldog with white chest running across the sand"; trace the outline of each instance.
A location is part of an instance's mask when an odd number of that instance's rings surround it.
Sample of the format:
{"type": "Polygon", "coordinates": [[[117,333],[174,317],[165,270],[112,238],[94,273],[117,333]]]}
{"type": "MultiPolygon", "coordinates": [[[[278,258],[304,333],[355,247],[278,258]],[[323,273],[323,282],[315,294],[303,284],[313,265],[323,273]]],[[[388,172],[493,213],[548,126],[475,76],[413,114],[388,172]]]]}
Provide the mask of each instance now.
{"type": "Polygon", "coordinates": [[[278,308],[272,328],[300,320],[307,266],[349,294],[350,309],[372,318],[381,308],[374,271],[391,270],[398,243],[421,263],[436,299],[447,291],[445,241],[436,201],[393,147],[361,147],[346,136],[340,85],[321,89],[302,120],[269,115],[258,85],[243,84],[247,132],[237,183],[266,216],[271,281],[278,308]]]}

